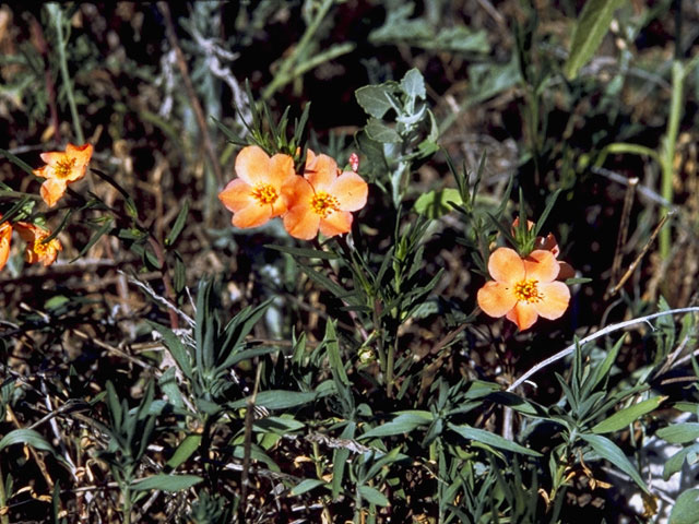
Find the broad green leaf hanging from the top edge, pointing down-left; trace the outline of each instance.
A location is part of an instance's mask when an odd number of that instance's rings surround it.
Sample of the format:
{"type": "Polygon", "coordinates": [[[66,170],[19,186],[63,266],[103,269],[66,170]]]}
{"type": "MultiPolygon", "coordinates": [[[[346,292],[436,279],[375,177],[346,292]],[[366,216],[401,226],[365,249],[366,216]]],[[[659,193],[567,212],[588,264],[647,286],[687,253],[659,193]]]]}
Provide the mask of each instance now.
{"type": "Polygon", "coordinates": [[[592,58],[607,34],[614,12],[624,3],[625,0],[588,0],[572,29],[570,55],[564,66],[568,80],[573,80],[592,58]]]}

